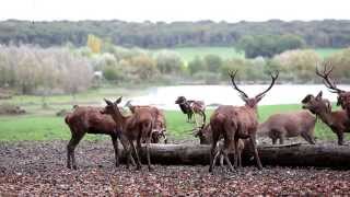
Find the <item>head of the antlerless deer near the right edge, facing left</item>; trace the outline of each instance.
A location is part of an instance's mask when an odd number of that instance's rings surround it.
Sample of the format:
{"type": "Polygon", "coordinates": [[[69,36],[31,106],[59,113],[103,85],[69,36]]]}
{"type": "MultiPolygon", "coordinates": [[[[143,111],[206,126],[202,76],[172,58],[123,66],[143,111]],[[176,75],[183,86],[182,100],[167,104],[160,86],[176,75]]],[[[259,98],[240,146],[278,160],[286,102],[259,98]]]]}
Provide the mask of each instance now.
{"type": "Polygon", "coordinates": [[[328,100],[323,99],[322,94],[323,94],[322,91],[319,91],[316,97],[312,94],[306,95],[302,100],[303,108],[308,109],[313,114],[320,115],[320,116],[330,114],[331,112],[330,102],[328,100]]]}

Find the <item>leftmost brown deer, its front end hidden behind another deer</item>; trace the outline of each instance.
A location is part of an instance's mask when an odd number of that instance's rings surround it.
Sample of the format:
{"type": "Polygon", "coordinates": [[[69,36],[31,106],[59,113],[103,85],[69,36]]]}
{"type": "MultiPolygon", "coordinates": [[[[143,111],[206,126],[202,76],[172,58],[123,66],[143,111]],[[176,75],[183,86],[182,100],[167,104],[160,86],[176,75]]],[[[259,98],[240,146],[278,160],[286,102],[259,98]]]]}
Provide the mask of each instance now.
{"type": "MultiPolygon", "coordinates": [[[[118,130],[112,116],[101,114],[102,108],[100,107],[74,105],[73,109],[65,118],[71,131],[71,139],[67,146],[67,167],[71,169],[73,166],[77,170],[74,150],[85,134],[109,135],[115,150],[116,166],[118,166],[118,130]]],[[[128,147],[128,141],[120,140],[120,142],[125,149],[128,147]]],[[[133,159],[131,159],[131,162],[135,164],[133,159]]]]}

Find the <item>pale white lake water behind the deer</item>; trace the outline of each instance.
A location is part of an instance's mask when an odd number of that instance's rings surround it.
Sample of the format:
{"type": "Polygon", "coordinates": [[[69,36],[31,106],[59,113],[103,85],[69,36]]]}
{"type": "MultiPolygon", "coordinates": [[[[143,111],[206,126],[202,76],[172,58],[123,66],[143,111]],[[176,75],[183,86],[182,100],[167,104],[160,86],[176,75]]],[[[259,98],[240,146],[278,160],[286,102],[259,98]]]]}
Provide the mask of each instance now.
{"type": "MultiPolygon", "coordinates": [[[[268,88],[266,85],[238,85],[248,96],[255,96],[268,88]]],[[[338,85],[342,90],[350,90],[350,85],[338,85]]],[[[262,99],[260,105],[298,104],[306,94],[316,95],[323,91],[324,97],[335,102],[337,95],[327,91],[323,84],[277,84],[262,99]]],[[[151,88],[141,96],[131,97],[135,105],[155,105],[164,109],[178,109],[175,105],[177,96],[184,95],[189,100],[200,100],[206,105],[226,104],[242,105],[237,92],[230,85],[178,85],[151,88]]],[[[125,100],[124,102],[126,102],[125,100]]]]}

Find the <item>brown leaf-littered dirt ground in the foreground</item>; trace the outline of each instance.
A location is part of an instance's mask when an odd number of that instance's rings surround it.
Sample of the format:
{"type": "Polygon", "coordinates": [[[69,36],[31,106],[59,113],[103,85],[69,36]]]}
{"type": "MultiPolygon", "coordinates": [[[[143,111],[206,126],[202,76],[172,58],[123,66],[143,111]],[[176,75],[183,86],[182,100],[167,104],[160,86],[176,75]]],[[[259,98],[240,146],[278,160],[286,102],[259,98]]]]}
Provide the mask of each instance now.
{"type": "Polygon", "coordinates": [[[155,165],[154,172],[114,165],[110,141],[82,141],[79,170],[66,169],[67,141],[0,142],[0,196],[350,195],[350,171],[254,166],[155,165]]]}

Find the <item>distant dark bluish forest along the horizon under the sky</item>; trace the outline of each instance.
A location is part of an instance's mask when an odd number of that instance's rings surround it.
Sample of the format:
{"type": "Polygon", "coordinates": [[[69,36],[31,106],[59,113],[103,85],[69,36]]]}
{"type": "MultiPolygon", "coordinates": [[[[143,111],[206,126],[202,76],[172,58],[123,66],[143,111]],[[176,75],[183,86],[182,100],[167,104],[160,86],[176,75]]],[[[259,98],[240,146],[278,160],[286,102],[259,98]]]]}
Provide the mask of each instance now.
{"type": "Polygon", "coordinates": [[[0,22],[1,44],[36,44],[43,47],[84,46],[89,35],[96,35],[125,47],[168,48],[180,46],[233,46],[244,36],[295,35],[310,47],[347,47],[350,45],[349,20],[267,22],[124,22],[55,21],[0,22]]]}

